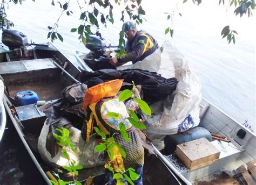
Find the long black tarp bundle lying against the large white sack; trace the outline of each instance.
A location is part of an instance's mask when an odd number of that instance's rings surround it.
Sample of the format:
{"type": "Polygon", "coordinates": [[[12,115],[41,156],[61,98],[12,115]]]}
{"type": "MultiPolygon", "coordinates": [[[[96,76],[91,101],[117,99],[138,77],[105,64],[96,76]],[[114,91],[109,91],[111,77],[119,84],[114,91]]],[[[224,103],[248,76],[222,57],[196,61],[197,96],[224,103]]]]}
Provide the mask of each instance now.
{"type": "Polygon", "coordinates": [[[178,84],[178,81],[175,78],[165,79],[157,73],[141,69],[102,69],[93,73],[83,72],[79,76],[79,80],[86,83],[91,77],[99,77],[104,81],[124,79],[124,82],[130,84],[134,81],[136,86],[142,86],[144,101],[149,104],[171,95],[178,84]]]}

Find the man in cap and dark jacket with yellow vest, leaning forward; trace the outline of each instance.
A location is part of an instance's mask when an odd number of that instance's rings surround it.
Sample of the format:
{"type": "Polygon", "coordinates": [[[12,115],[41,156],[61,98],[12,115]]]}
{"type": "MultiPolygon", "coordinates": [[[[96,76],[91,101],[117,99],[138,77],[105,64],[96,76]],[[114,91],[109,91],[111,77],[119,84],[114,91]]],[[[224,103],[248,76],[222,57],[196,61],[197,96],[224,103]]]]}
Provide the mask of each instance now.
{"type": "Polygon", "coordinates": [[[136,25],[132,22],[125,22],[122,30],[127,39],[126,54],[122,58],[112,57],[110,59],[111,65],[120,66],[129,61],[134,64],[142,61],[158,48],[157,41],[149,33],[138,31],[136,25]]]}

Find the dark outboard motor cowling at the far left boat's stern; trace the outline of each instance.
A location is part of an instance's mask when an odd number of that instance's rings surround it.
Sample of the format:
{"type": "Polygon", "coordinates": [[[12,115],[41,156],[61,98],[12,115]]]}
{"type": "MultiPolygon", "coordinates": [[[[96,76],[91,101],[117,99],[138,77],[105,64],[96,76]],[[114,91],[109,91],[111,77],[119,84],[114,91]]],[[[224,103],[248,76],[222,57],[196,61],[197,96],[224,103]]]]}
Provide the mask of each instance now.
{"type": "Polygon", "coordinates": [[[22,32],[17,30],[6,29],[2,33],[2,42],[10,50],[19,48],[28,44],[28,38],[22,32]]]}

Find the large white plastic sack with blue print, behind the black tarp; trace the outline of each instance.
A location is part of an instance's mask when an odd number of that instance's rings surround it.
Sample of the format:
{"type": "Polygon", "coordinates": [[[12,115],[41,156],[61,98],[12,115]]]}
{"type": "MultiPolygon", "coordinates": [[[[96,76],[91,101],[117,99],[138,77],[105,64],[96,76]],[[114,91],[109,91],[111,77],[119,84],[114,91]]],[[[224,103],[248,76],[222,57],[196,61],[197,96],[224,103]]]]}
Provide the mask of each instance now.
{"type": "Polygon", "coordinates": [[[156,52],[130,68],[150,70],[165,78],[176,77],[178,80],[174,98],[167,97],[151,105],[153,116],[146,118],[150,137],[159,139],[198,126],[201,85],[198,77],[189,69],[183,54],[170,41],[165,41],[156,52]]]}

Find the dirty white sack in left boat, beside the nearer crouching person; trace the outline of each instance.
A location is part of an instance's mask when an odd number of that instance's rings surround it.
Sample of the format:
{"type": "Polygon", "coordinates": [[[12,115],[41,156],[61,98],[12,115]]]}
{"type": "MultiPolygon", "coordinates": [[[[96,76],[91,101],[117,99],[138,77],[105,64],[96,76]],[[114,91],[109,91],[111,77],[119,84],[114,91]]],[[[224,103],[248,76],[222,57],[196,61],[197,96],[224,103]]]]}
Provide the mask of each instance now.
{"type": "MultiPolygon", "coordinates": [[[[59,166],[69,166],[69,161],[65,159],[62,155],[62,151],[60,150],[57,155],[51,158],[50,152],[46,149],[46,137],[49,132],[50,124],[46,125],[46,121],[44,122],[44,126],[38,138],[38,152],[41,155],[42,159],[46,162],[55,163],[59,166]]],[[[77,153],[74,153],[72,150],[69,150],[66,147],[66,151],[70,156],[71,161],[76,161],[76,165],[82,165],[83,168],[95,167],[98,165],[103,165],[104,161],[100,158],[99,152],[94,152],[94,147],[97,145],[97,141],[95,138],[91,138],[90,141],[86,143],[81,137],[81,131],[71,126],[70,129],[70,139],[74,144],[74,147],[77,153]]]]}

